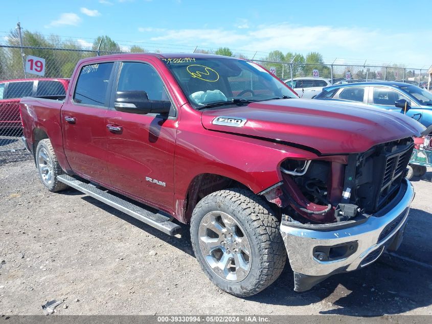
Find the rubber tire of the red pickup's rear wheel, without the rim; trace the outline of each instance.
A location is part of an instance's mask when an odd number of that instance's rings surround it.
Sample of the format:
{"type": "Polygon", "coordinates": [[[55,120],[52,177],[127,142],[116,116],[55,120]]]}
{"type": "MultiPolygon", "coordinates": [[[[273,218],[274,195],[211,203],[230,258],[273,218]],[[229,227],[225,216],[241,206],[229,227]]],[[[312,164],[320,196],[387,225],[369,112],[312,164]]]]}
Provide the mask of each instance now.
{"type": "Polygon", "coordinates": [[[57,176],[63,174],[63,170],[61,169],[61,166],[57,161],[57,157],[54,153],[53,145],[51,145],[51,141],[49,139],[40,140],[39,143],[37,144],[36,152],[35,152],[35,161],[36,161],[37,170],[39,172],[39,178],[42,181],[43,185],[46,186],[48,190],[52,192],[56,192],[56,191],[69,188],[68,185],[57,180],[57,176]],[[45,181],[42,177],[41,165],[39,164],[39,159],[38,159],[41,149],[46,150],[51,162],[51,170],[52,170],[53,177],[52,177],[52,181],[50,181],[49,183],[45,181]]]}

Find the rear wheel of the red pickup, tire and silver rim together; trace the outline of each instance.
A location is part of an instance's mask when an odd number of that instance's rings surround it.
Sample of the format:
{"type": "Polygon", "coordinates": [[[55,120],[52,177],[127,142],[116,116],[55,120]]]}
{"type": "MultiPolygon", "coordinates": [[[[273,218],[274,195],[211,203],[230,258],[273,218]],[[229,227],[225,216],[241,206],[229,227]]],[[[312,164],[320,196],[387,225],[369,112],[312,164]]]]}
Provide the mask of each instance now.
{"type": "Polygon", "coordinates": [[[40,180],[48,190],[55,192],[68,187],[57,180],[57,176],[61,175],[63,170],[57,161],[54,148],[49,139],[43,139],[37,144],[35,159],[40,180]]]}

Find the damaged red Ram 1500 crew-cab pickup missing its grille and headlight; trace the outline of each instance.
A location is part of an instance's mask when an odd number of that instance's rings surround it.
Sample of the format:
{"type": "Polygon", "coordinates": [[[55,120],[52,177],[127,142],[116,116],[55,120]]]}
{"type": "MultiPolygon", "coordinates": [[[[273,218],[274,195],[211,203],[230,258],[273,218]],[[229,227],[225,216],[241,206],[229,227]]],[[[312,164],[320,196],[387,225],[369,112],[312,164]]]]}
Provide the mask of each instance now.
{"type": "Polygon", "coordinates": [[[423,131],[404,115],[299,99],[253,62],[204,54],[87,58],[57,99],[20,103],[42,183],[170,235],[189,223],[231,294],[260,292],[287,258],[304,291],[401,243],[423,131]]]}

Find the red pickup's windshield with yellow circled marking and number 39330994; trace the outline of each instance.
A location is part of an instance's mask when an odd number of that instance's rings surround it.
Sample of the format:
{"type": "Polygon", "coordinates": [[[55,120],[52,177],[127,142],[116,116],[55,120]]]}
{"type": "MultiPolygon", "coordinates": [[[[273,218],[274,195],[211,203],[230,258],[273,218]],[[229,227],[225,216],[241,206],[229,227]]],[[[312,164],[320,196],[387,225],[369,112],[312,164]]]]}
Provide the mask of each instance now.
{"type": "Polygon", "coordinates": [[[195,109],[214,103],[297,97],[255,63],[230,58],[162,58],[195,109]]]}

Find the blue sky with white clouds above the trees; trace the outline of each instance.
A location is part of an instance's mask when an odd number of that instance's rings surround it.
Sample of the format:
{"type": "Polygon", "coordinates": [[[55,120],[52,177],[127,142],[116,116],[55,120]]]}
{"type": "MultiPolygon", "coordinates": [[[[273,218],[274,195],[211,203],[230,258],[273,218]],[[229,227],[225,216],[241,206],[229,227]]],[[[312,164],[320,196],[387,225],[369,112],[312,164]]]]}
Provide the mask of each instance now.
{"type": "Polygon", "coordinates": [[[432,1],[75,0],[5,1],[0,44],[20,21],[43,35],[91,46],[108,35],[127,50],[229,47],[251,58],[272,50],[320,52],[326,62],[432,64],[432,1]]]}

